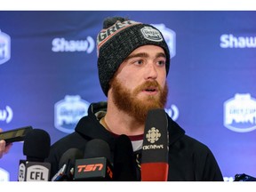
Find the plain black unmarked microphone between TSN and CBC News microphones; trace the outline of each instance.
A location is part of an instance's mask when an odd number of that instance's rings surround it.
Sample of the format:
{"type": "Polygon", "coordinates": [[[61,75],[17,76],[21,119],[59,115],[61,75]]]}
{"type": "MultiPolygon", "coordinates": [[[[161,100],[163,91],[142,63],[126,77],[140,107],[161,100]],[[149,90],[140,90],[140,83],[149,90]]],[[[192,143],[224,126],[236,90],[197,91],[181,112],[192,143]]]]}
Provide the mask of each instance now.
{"type": "Polygon", "coordinates": [[[132,142],[127,135],[116,138],[114,151],[114,180],[136,181],[136,160],[133,154],[132,142]]]}

